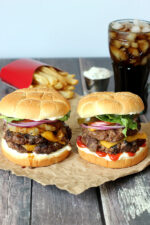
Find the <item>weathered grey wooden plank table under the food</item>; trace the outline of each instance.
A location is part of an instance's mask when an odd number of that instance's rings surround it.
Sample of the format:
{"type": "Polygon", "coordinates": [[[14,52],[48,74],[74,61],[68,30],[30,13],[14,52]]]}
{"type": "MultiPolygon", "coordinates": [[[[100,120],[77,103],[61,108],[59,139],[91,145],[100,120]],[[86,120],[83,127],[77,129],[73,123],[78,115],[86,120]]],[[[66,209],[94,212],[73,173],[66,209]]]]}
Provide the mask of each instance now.
{"type": "MultiPolygon", "coordinates": [[[[82,94],[81,75],[91,66],[111,69],[107,58],[38,59],[75,73],[76,91],[82,94]]],[[[0,60],[0,68],[12,60],[0,60]]],[[[108,90],[114,90],[113,78],[108,90]]],[[[11,92],[0,82],[0,97],[11,92]]],[[[149,99],[150,102],[150,99],[149,99]]],[[[142,116],[150,120],[150,113],[142,116]]],[[[33,180],[0,170],[0,225],[149,225],[150,168],[91,188],[75,196],[43,187],[33,180]]]]}

